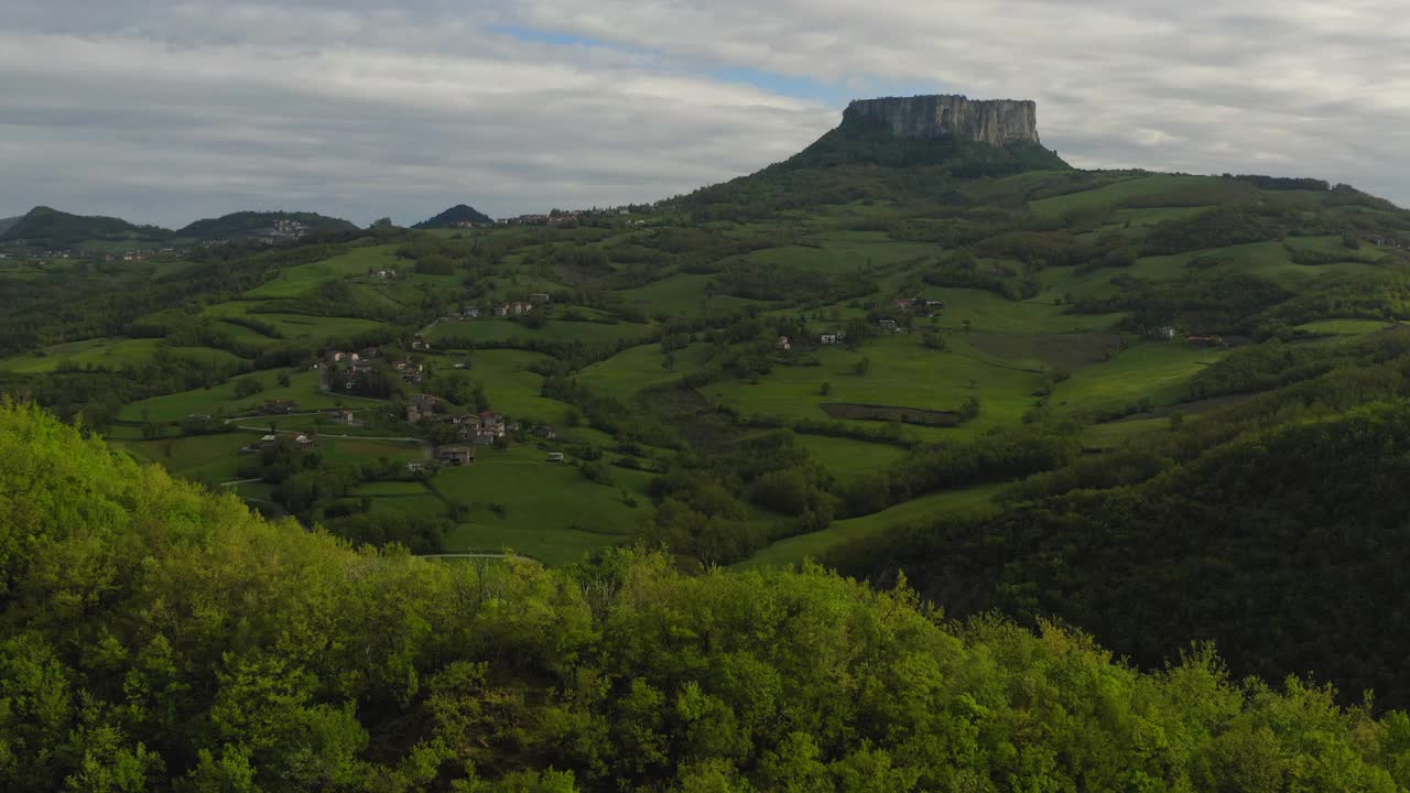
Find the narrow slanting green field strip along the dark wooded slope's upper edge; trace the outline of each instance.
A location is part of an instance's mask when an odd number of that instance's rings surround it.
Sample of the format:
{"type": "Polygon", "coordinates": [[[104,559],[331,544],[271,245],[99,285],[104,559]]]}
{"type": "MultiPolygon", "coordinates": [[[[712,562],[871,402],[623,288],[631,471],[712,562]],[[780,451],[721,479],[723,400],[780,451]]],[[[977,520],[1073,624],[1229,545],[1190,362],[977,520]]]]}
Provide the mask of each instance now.
{"type": "Polygon", "coordinates": [[[849,540],[876,536],[883,531],[902,525],[921,522],[946,514],[971,514],[987,509],[990,501],[1007,485],[994,484],[974,487],[969,490],[955,490],[922,495],[914,501],[907,501],[883,512],[852,518],[849,521],[835,521],[821,532],[812,532],[776,542],[759,553],[750,556],[736,567],[783,567],[785,564],[799,564],[804,559],[816,559],[828,550],[849,540]]]}

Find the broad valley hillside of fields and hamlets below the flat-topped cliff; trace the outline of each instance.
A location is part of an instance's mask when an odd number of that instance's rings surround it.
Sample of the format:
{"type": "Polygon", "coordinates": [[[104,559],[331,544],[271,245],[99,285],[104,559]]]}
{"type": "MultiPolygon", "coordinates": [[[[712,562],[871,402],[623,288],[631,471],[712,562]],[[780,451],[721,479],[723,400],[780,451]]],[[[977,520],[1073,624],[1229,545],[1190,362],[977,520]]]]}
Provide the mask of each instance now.
{"type": "Polygon", "coordinates": [[[1363,617],[1404,607],[1383,199],[849,121],[626,214],[317,240],[0,261],[0,391],[354,543],[822,557],[1144,669],[1214,639],[1410,698],[1363,617]]]}

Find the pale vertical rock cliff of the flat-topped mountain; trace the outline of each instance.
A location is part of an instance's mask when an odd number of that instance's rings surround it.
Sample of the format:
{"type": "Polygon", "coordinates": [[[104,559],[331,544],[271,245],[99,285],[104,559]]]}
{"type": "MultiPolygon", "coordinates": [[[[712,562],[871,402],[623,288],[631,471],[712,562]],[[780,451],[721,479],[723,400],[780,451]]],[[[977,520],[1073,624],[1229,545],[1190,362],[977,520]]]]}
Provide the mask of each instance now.
{"type": "Polygon", "coordinates": [[[884,123],[897,137],[960,138],[1001,147],[1038,140],[1038,103],[997,99],[970,102],[964,96],[887,96],[859,99],[847,116],[884,123]]]}

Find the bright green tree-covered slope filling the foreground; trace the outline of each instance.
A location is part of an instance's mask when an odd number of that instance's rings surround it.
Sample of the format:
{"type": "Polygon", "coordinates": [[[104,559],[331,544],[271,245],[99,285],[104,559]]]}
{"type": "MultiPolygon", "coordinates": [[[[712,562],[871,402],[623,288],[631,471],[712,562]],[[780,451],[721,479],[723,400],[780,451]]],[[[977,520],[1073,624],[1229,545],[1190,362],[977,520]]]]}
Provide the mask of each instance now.
{"type": "Polygon", "coordinates": [[[818,567],[357,552],[0,405],[11,790],[1368,790],[1410,718],[818,567]]]}

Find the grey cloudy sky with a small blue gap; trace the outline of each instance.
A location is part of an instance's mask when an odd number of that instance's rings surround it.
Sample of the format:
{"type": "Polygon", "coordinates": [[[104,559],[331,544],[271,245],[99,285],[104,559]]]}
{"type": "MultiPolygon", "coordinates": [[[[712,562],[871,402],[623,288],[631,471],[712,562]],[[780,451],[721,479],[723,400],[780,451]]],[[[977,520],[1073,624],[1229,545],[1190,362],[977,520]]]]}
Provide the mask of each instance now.
{"type": "Polygon", "coordinates": [[[0,217],[654,200],[849,99],[1038,102],[1079,167],[1410,203],[1399,0],[0,0],[0,217]]]}

